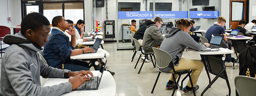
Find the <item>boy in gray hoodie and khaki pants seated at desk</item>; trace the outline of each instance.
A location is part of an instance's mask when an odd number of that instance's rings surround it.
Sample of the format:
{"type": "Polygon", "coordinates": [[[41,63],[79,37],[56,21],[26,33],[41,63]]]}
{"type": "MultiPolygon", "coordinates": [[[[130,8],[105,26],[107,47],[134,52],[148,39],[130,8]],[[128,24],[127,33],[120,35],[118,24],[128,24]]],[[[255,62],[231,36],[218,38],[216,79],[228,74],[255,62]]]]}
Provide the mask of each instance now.
{"type": "MultiPolygon", "coordinates": [[[[180,19],[175,22],[177,28],[172,27],[168,28],[165,39],[160,46],[160,49],[168,52],[172,56],[172,61],[174,62],[175,71],[180,70],[193,70],[191,73],[191,79],[195,90],[199,89],[199,86],[196,85],[198,77],[203,70],[203,62],[201,60],[192,60],[186,59],[182,56],[182,53],[185,47],[189,47],[193,50],[203,50],[210,46],[208,43],[198,44],[193,38],[188,34],[192,22],[180,19]]],[[[173,72],[173,71],[170,71],[173,72]]],[[[174,75],[177,79],[178,75],[174,75]]],[[[166,89],[173,89],[175,86],[174,79],[172,75],[170,76],[169,81],[166,84],[166,89]]],[[[179,85],[178,85],[179,86],[179,85]]],[[[188,81],[187,86],[182,89],[183,92],[192,92],[192,86],[190,81],[188,81]]]]}

